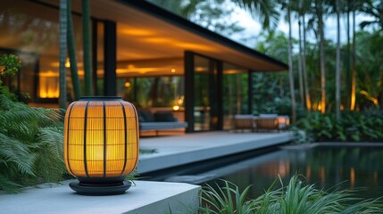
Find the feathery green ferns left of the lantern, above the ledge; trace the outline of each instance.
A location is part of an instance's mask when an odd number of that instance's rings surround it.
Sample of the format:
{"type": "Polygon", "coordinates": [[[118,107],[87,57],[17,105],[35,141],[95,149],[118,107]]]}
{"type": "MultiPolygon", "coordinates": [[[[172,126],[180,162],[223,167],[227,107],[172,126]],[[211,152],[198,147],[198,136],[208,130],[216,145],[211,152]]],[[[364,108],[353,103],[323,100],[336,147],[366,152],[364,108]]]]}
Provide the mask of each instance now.
{"type": "Polygon", "coordinates": [[[32,108],[0,95],[0,190],[62,180],[61,112],[32,108]]]}

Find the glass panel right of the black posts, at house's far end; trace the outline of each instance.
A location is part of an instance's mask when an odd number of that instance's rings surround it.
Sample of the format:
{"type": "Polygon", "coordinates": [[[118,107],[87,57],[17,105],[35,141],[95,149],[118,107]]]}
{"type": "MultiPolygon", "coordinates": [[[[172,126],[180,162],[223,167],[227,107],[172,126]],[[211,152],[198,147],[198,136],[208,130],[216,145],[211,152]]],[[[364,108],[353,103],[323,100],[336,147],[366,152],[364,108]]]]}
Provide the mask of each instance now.
{"type": "Polygon", "coordinates": [[[223,63],[223,129],[232,128],[236,114],[247,114],[248,72],[229,63],[223,63]]]}

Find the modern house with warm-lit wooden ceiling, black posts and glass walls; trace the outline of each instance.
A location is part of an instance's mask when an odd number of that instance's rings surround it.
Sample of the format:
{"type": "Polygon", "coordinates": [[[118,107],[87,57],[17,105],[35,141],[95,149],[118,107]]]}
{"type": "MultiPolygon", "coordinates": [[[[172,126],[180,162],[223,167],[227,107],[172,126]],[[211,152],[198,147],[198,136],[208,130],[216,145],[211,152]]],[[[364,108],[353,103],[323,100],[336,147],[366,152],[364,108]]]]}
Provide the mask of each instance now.
{"type": "MultiPolygon", "coordinates": [[[[81,1],[71,2],[83,81],[81,1]]],[[[252,72],[287,70],[283,62],[146,1],[89,2],[95,94],[171,110],[187,121],[187,132],[229,128],[232,115],[252,109],[252,72]]],[[[29,94],[29,105],[58,103],[58,4],[0,2],[0,53],[15,53],[22,61],[18,76],[4,81],[21,98],[29,94]]],[[[70,73],[68,99],[73,100],[70,73]]]]}

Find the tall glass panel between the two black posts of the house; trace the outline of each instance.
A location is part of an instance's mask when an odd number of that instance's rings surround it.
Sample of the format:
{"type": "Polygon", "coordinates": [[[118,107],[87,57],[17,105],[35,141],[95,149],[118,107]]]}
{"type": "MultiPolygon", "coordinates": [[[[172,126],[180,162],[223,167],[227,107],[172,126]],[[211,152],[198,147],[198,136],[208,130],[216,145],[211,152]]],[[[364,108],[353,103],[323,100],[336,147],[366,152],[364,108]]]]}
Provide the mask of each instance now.
{"type": "Polygon", "coordinates": [[[194,130],[216,130],[218,124],[217,63],[195,55],[194,65],[194,130]]]}

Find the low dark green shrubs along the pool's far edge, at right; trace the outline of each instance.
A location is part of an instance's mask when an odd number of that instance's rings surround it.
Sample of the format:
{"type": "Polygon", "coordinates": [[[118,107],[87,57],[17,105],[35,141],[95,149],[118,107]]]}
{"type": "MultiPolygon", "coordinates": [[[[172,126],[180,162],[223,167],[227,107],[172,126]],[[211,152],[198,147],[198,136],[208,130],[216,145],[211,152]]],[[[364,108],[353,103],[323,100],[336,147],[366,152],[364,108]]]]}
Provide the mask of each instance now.
{"type": "Polygon", "coordinates": [[[383,114],[379,111],[334,113],[313,112],[299,119],[296,127],[303,129],[308,141],[377,142],[383,140],[383,114]]]}

